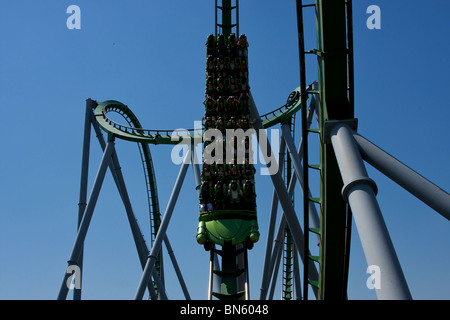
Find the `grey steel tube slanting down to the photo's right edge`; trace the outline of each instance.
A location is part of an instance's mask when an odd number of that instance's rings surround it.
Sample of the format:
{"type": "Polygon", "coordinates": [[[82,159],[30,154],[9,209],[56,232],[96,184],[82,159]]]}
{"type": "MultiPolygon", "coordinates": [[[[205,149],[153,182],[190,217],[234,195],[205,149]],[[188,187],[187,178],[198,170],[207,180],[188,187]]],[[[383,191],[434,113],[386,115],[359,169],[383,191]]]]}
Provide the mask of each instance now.
{"type": "Polygon", "coordinates": [[[353,137],[364,160],[436,210],[444,218],[450,220],[450,194],[358,133],[353,132],[353,137]]]}

